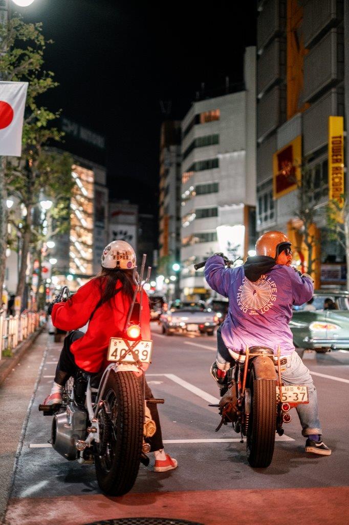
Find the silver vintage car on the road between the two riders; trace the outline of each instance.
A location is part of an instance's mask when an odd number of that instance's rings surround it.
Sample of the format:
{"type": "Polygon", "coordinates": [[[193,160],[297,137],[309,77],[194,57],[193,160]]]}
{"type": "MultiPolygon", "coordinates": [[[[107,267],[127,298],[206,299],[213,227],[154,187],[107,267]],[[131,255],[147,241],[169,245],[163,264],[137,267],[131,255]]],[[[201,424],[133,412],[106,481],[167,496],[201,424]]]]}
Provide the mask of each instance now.
{"type": "Polygon", "coordinates": [[[167,312],[160,316],[162,333],[172,335],[173,332],[180,333],[206,333],[213,335],[218,324],[218,318],[213,311],[206,309],[204,301],[172,301],[168,305],[167,312]]]}

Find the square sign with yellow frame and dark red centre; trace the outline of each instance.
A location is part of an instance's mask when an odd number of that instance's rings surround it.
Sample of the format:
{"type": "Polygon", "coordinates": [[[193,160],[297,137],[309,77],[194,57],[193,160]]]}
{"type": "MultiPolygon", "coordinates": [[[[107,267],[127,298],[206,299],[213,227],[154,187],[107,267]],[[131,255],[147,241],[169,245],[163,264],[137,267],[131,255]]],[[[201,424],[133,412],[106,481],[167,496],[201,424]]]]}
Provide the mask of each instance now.
{"type": "Polygon", "coordinates": [[[274,198],[296,190],[301,181],[302,141],[299,135],[273,155],[274,198]]]}

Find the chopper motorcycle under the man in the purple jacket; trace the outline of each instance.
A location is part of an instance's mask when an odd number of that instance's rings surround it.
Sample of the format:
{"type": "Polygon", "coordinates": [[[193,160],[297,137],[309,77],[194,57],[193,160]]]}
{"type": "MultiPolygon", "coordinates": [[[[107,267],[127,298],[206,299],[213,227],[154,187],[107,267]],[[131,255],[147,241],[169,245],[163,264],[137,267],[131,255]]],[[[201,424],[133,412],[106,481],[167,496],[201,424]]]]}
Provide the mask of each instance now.
{"type": "MultiPolygon", "coordinates": [[[[225,266],[235,261],[223,257],[225,266]]],[[[194,264],[195,270],[204,267],[206,260],[194,264]]],[[[272,461],[276,433],[282,436],[283,423],[291,421],[289,411],[300,403],[309,403],[306,385],[284,385],[281,380],[280,347],[277,354],[267,346],[246,347],[242,360],[228,370],[228,382],[221,390],[217,405],[222,425],[232,424],[246,438],[247,460],[251,467],[266,468],[272,461]]]]}

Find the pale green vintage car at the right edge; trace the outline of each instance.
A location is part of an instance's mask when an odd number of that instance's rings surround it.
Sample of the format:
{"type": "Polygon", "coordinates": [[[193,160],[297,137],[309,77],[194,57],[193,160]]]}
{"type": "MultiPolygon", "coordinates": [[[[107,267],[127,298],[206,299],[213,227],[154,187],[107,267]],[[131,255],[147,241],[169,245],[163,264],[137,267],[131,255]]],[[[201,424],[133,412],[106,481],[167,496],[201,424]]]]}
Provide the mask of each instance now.
{"type": "Polygon", "coordinates": [[[315,290],[311,304],[293,307],[290,328],[296,348],[349,350],[349,292],[315,290]]]}

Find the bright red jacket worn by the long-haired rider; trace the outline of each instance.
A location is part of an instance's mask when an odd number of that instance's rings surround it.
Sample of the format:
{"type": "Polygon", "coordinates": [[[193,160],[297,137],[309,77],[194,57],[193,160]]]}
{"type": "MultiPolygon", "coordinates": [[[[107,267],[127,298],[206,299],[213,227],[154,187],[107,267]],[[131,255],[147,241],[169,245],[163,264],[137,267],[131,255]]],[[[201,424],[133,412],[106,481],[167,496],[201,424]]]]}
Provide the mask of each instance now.
{"type": "MultiPolygon", "coordinates": [[[[103,278],[102,278],[103,279],[103,278]]],[[[102,281],[103,283],[103,281],[102,281]]],[[[67,302],[58,302],[52,309],[52,322],[61,330],[83,327],[101,298],[100,278],[86,282],[67,302]]],[[[117,283],[117,287],[120,283],[117,283]]],[[[139,301],[139,297],[138,297],[139,301]]],[[[85,335],[70,347],[75,363],[86,372],[99,372],[106,362],[111,337],[123,337],[123,329],[131,301],[123,290],[94,312],[85,335]]],[[[150,339],[150,313],[147,293],[143,292],[141,337],[150,339]]]]}

